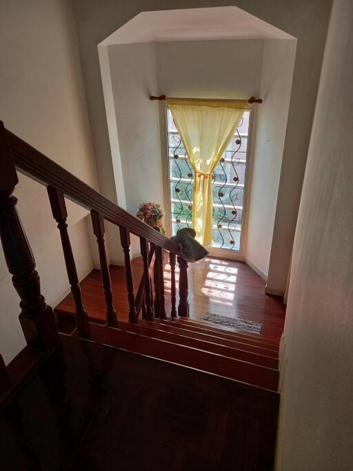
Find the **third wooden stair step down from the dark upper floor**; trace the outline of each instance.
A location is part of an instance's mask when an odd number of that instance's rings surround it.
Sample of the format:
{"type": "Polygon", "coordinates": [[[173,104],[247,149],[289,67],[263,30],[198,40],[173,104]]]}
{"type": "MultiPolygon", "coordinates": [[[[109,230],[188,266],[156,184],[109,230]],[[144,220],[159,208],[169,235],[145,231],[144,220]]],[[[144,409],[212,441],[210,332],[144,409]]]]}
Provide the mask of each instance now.
{"type": "Polygon", "coordinates": [[[206,342],[216,343],[217,345],[224,345],[225,347],[235,348],[237,350],[243,350],[245,352],[252,352],[254,354],[263,355],[264,357],[270,357],[278,360],[278,352],[274,350],[268,350],[267,348],[261,348],[257,345],[245,343],[244,341],[234,341],[230,339],[223,339],[217,337],[212,332],[197,332],[196,330],[190,330],[187,328],[181,328],[179,325],[174,323],[162,323],[157,321],[139,321],[139,325],[147,325],[150,328],[158,328],[165,332],[182,335],[183,337],[190,337],[191,339],[203,340],[206,342]]]}

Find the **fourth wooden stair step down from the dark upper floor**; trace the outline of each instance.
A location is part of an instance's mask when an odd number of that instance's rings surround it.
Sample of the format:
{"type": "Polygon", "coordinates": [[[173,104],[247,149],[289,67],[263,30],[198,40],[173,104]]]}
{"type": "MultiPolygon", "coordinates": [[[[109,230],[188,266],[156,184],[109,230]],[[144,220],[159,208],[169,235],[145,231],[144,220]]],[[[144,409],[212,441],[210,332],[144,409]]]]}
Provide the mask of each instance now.
{"type": "Polygon", "coordinates": [[[265,348],[266,350],[272,350],[278,354],[279,347],[273,344],[269,344],[265,341],[261,341],[261,339],[254,339],[253,337],[247,337],[246,335],[241,335],[240,337],[233,333],[228,333],[226,331],[214,330],[213,328],[208,328],[208,326],[201,325],[201,324],[189,324],[185,322],[179,321],[179,319],[154,319],[154,322],[162,323],[164,325],[174,325],[175,328],[190,330],[190,332],[200,332],[203,334],[209,334],[214,337],[219,337],[220,339],[226,339],[230,341],[236,341],[239,343],[246,343],[248,345],[254,345],[261,348],[265,348]]]}

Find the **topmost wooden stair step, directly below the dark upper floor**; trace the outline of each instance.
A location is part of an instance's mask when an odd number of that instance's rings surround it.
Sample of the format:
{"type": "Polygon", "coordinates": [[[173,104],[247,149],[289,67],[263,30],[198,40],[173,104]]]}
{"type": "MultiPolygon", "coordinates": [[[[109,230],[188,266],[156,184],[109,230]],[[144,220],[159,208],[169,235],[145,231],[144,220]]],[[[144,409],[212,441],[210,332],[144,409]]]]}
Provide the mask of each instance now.
{"type": "Polygon", "coordinates": [[[277,390],[279,372],[273,368],[105,325],[90,323],[90,329],[92,340],[105,345],[178,363],[259,388],[277,390]]]}

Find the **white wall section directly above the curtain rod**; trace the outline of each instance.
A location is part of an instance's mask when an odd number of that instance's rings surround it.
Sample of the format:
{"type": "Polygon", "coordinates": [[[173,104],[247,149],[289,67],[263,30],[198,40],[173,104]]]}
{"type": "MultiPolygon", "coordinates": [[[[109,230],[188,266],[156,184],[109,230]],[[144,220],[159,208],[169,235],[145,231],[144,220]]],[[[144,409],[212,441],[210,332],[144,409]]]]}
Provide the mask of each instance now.
{"type": "Polygon", "coordinates": [[[259,94],[263,40],[157,43],[159,93],[248,99],[259,94]]]}

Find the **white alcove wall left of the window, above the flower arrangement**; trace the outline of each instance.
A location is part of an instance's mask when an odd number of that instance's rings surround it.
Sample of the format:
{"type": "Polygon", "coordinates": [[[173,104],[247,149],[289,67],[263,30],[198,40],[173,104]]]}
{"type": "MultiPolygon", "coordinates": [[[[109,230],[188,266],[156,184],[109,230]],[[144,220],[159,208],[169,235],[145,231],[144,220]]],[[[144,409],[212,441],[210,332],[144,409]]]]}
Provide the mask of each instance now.
{"type": "Polygon", "coordinates": [[[126,209],[143,201],[163,203],[159,112],[154,43],[109,46],[126,209]]]}

